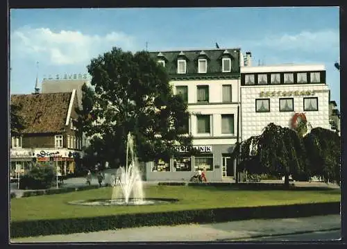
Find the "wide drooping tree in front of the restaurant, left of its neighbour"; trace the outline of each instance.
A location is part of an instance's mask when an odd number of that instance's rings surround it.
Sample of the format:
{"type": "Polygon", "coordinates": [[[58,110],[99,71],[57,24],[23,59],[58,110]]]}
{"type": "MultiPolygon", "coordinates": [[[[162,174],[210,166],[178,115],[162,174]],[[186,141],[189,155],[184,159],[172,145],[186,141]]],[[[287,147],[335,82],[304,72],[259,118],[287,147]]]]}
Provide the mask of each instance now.
{"type": "Polygon", "coordinates": [[[289,186],[289,175],[294,179],[307,171],[303,139],[289,128],[269,123],[262,134],[250,137],[235,148],[240,151],[239,169],[250,173],[285,175],[289,186]]]}

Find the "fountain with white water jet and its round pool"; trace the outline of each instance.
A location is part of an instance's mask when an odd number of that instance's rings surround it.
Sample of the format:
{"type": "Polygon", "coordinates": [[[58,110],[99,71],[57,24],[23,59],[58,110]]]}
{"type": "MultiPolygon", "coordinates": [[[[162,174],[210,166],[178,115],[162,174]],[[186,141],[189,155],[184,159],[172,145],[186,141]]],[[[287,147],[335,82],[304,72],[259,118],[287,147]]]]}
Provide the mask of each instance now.
{"type": "Polygon", "coordinates": [[[142,179],[139,173],[139,164],[134,152],[133,136],[128,133],[126,142],[126,166],[117,169],[116,175],[111,180],[112,198],[110,200],[74,200],[69,204],[74,205],[154,205],[177,201],[176,199],[144,198],[142,179]],[[130,155],[129,155],[130,153],[130,155]],[[129,157],[130,156],[130,157],[129,157]],[[129,162],[130,159],[130,162],[129,162]]]}

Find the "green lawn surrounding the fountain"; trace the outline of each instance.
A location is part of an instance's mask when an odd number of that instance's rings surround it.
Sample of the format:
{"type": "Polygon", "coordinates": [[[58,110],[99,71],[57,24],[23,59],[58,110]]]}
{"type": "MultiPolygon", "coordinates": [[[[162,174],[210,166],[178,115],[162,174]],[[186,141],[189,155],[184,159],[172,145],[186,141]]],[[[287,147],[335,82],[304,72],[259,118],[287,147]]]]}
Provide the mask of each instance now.
{"type": "Polygon", "coordinates": [[[108,216],[139,212],[167,212],[215,207],[257,207],[340,200],[339,189],[329,190],[237,190],[229,187],[146,186],[147,198],[177,198],[177,203],[153,206],[91,207],[67,204],[71,200],[110,198],[110,187],[67,194],[14,198],[10,200],[11,221],[108,216]]]}

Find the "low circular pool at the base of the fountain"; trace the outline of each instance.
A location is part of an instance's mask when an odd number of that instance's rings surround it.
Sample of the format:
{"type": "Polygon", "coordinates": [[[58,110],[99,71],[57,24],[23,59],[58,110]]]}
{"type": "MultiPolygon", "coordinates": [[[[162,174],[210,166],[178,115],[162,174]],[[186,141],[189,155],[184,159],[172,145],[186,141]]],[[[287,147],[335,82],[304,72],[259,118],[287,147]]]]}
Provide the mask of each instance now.
{"type": "Polygon", "coordinates": [[[143,206],[143,205],[160,205],[167,203],[175,203],[177,199],[168,198],[145,198],[144,200],[129,199],[126,203],[125,199],[94,199],[94,200],[73,200],[70,201],[71,205],[83,206],[143,206]]]}

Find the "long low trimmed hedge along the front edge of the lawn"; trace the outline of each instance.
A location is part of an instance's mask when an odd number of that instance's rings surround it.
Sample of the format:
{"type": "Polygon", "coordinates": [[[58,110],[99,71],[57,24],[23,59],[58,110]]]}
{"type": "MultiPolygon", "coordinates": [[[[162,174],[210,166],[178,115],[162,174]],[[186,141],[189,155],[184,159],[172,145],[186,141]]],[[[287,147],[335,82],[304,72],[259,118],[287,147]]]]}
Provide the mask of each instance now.
{"type": "Polygon", "coordinates": [[[333,202],[264,207],[226,207],[41,221],[13,221],[10,225],[10,236],[11,238],[37,237],[49,234],[115,230],[126,227],[215,223],[252,218],[291,218],[339,213],[340,203],[333,202]]]}

